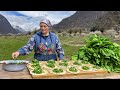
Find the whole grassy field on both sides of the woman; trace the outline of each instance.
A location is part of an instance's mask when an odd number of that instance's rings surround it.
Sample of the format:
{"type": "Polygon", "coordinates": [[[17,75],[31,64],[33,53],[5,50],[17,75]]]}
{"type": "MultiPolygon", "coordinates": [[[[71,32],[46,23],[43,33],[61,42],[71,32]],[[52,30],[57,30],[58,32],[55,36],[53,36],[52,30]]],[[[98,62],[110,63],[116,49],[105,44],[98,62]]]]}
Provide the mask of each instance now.
{"type": "MultiPolygon", "coordinates": [[[[0,36],[0,60],[11,60],[12,52],[24,46],[31,36],[0,36]]],[[[65,51],[65,58],[70,59],[76,52],[82,42],[80,37],[59,37],[62,47],[65,51]],[[72,45],[73,44],[73,45],[72,45]]],[[[25,56],[19,56],[18,59],[33,59],[34,51],[25,56]]]]}

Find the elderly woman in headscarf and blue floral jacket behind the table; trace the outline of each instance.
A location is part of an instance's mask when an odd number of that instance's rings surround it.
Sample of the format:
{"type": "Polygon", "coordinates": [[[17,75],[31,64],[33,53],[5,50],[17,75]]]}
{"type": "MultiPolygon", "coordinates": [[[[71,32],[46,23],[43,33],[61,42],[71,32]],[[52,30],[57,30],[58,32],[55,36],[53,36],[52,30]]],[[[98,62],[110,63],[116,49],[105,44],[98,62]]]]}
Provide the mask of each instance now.
{"type": "Polygon", "coordinates": [[[13,52],[12,57],[29,54],[34,49],[34,58],[39,61],[57,60],[57,57],[63,60],[64,50],[57,35],[49,31],[51,26],[48,19],[41,20],[40,31],[33,35],[25,46],[13,52]]]}

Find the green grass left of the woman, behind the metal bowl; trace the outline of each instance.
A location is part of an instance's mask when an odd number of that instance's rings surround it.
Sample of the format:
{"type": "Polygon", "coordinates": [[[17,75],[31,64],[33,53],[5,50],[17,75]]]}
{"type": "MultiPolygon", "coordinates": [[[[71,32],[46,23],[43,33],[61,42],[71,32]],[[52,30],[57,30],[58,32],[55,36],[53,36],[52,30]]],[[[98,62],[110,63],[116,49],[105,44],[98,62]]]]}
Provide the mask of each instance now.
{"type": "MultiPolygon", "coordinates": [[[[0,60],[11,60],[12,52],[24,46],[29,40],[29,37],[28,36],[1,36],[0,37],[0,60]]],[[[29,59],[32,57],[33,57],[33,52],[29,55],[19,56],[18,59],[29,59]]]]}

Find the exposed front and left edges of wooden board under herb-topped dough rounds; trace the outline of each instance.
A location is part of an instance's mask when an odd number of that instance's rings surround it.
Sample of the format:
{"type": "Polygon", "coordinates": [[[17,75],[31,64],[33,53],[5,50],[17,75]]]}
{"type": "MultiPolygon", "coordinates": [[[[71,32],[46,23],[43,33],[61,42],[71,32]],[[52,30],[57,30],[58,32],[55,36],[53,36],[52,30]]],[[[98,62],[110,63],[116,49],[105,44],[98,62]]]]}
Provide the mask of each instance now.
{"type": "Polygon", "coordinates": [[[66,78],[66,77],[80,77],[80,76],[83,76],[83,75],[96,75],[96,74],[107,74],[108,72],[106,70],[95,70],[95,71],[80,71],[78,74],[73,74],[73,73],[69,73],[67,72],[66,74],[63,74],[63,75],[56,75],[56,74],[51,74],[49,73],[49,70],[48,71],[48,74],[46,75],[32,75],[30,73],[31,69],[27,66],[28,68],[28,71],[29,71],[29,74],[31,75],[32,78],[34,79],[59,79],[59,78],[66,78]]]}

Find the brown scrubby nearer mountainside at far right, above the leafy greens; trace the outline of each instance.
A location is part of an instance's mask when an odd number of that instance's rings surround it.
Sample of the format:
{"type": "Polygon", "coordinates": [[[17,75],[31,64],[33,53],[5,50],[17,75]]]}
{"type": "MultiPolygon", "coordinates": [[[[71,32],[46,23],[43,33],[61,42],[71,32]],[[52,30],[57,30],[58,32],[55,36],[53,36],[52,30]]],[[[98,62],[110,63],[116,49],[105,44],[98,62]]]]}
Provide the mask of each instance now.
{"type": "Polygon", "coordinates": [[[120,26],[120,11],[109,11],[95,21],[93,28],[107,30],[114,28],[116,25],[120,26]]]}

